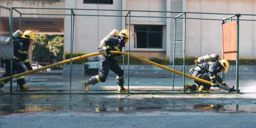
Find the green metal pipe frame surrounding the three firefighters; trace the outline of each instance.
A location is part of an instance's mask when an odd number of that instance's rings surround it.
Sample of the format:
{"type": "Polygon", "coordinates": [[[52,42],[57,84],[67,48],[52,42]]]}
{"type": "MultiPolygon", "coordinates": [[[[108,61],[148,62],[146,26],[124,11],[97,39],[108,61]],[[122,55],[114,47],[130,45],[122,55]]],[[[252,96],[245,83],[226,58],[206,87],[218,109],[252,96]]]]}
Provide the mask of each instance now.
{"type": "MultiPolygon", "coordinates": [[[[74,19],[75,19],[75,16],[107,16],[107,17],[125,17],[125,29],[126,29],[126,20],[127,20],[127,17],[129,17],[129,23],[128,23],[128,26],[129,26],[129,31],[130,31],[130,27],[131,27],[131,17],[147,17],[147,18],[174,18],[175,19],[175,35],[174,35],[174,49],[175,49],[175,37],[176,37],[176,19],[177,18],[183,18],[184,22],[184,31],[183,31],[183,88],[185,87],[185,37],[186,37],[186,33],[185,33],[185,30],[186,30],[186,19],[200,19],[200,20],[219,20],[219,21],[223,21],[223,19],[206,19],[206,18],[190,18],[190,17],[186,17],[186,14],[208,14],[208,15],[237,15],[237,14],[222,14],[222,13],[200,13],[200,12],[172,12],[172,11],[143,11],[143,10],[103,10],[103,9],[81,9],[81,8],[21,8],[21,7],[12,7],[12,8],[7,8],[7,7],[4,7],[4,6],[0,6],[0,8],[3,8],[3,9],[7,9],[10,11],[10,37],[12,37],[12,19],[13,19],[13,10],[18,12],[20,14],[20,20],[19,20],[19,28],[21,29],[21,19],[22,19],[22,15],[55,15],[55,16],[70,16],[71,17],[71,30],[70,30],[70,35],[71,35],[71,38],[70,38],[70,54],[71,54],[71,58],[72,58],[72,54],[73,54],[73,35],[74,35],[74,19]],[[70,10],[70,14],[33,14],[33,13],[22,13],[20,12],[18,9],[32,9],[32,10],[70,10]],[[82,15],[82,14],[75,14],[74,10],[94,10],[94,11],[119,11],[119,12],[127,12],[125,14],[125,16],[117,16],[117,15],[82,15]],[[131,12],[159,12],[159,13],[179,13],[178,16],[176,17],[168,17],[168,16],[131,16],[131,12]],[[180,17],[180,16],[184,16],[184,17],[180,17]]],[[[252,15],[252,14],[240,14],[242,16],[256,16],[256,15],[252,15]]],[[[229,19],[231,17],[228,17],[226,19],[229,19]]],[[[244,20],[244,21],[256,21],[256,20],[253,20],[253,19],[239,19],[239,17],[237,17],[237,20],[244,20]]],[[[239,32],[239,22],[238,22],[238,27],[237,27],[237,31],[239,32]]],[[[129,33],[129,36],[130,36],[130,33],[129,33]]],[[[237,39],[237,44],[239,44],[239,33],[237,35],[238,39],[237,39]]],[[[12,38],[11,39],[11,42],[12,42],[12,38]]],[[[125,50],[125,48],[124,48],[125,50]]],[[[238,49],[238,45],[237,45],[237,60],[236,60],[236,88],[238,89],[238,56],[239,56],[239,49],[238,49]]],[[[129,90],[129,54],[130,54],[130,40],[129,40],[129,43],[128,43],[128,90],[129,90]]],[[[175,50],[174,50],[174,53],[173,53],[173,58],[175,58],[175,50]]],[[[124,58],[123,58],[123,62],[124,62],[124,58]]],[[[175,62],[173,60],[173,68],[175,67],[175,62]]],[[[72,61],[70,59],[70,69],[72,69],[72,61]]],[[[123,63],[123,69],[124,69],[124,63],[123,63]]],[[[11,70],[12,70],[12,63],[11,63],[11,70]]],[[[71,94],[71,80],[72,80],[72,70],[70,70],[70,81],[69,81],[69,94],[71,94]]],[[[173,80],[172,82],[174,83],[174,74],[173,74],[173,80]]],[[[174,88],[174,84],[173,84],[173,88],[174,88]]],[[[156,91],[156,90],[153,90],[153,91],[156,91]]],[[[183,90],[171,90],[171,91],[183,91],[183,90]]],[[[10,80],[10,93],[12,94],[12,74],[11,74],[11,80],[10,80]]],[[[150,92],[152,93],[152,92],[150,92]]],[[[183,93],[185,93],[183,91],[183,93]]],[[[238,92],[236,92],[238,93],[238,92]]],[[[99,94],[99,93],[97,93],[99,94]]],[[[103,94],[107,94],[107,93],[103,93],[103,94]]],[[[113,94],[113,93],[111,93],[113,94]]],[[[114,93],[116,94],[116,93],[114,93]]],[[[119,94],[119,93],[118,93],[119,94]]],[[[129,91],[128,91],[128,94],[129,94],[129,91]]],[[[136,94],[136,93],[135,93],[136,94]]],[[[139,93],[139,94],[143,94],[143,93],[139,93]]],[[[146,94],[149,94],[149,93],[146,93],[146,94]]],[[[168,94],[168,93],[161,93],[161,94],[168,94]]],[[[171,94],[174,94],[174,92],[171,92],[171,94]]]]}

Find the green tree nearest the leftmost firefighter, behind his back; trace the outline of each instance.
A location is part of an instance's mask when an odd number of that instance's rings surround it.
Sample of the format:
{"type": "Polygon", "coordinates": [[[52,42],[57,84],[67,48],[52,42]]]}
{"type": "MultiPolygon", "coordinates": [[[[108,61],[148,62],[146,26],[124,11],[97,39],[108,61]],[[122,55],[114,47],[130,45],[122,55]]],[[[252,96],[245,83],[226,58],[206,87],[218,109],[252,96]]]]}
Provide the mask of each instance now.
{"type": "Polygon", "coordinates": [[[50,51],[47,45],[48,37],[46,35],[35,35],[35,42],[32,45],[32,59],[35,62],[45,62],[45,60],[50,59],[50,51]]]}

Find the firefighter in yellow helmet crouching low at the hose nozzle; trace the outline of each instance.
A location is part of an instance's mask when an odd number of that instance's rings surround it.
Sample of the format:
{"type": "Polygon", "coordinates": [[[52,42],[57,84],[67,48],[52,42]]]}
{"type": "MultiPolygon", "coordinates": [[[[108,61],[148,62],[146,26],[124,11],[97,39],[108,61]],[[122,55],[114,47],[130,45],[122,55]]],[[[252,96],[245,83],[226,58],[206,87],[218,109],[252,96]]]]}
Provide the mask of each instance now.
{"type": "Polygon", "coordinates": [[[185,91],[190,89],[190,91],[199,90],[199,92],[210,92],[210,87],[219,87],[220,89],[227,90],[229,92],[236,91],[233,87],[226,85],[225,81],[218,75],[219,72],[228,72],[229,63],[227,60],[216,60],[210,62],[203,62],[198,64],[194,70],[191,72],[192,76],[201,78],[207,81],[211,81],[212,85],[202,83],[200,81],[194,80],[195,84],[186,83],[185,91]]]}

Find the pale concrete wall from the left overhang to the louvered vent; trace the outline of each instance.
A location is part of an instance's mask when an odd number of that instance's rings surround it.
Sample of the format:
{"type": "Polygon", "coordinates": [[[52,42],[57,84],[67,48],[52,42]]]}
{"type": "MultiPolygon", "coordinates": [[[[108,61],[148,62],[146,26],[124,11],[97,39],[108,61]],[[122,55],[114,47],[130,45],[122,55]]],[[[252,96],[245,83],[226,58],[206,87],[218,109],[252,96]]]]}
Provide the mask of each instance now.
{"type": "MultiPolygon", "coordinates": [[[[88,9],[110,9],[110,10],[156,10],[165,11],[165,0],[113,0],[113,4],[83,4],[83,0],[66,0],[66,8],[88,8],[88,9]],[[141,6],[143,5],[143,6],[141,6]]],[[[66,12],[70,14],[70,12],[66,12]]],[[[118,15],[125,16],[126,12],[121,11],[75,11],[75,14],[90,14],[90,15],[118,15]]],[[[165,16],[165,13],[153,12],[131,12],[131,16],[165,16]]],[[[70,16],[65,16],[65,42],[64,51],[70,51],[70,16]]],[[[127,18],[127,24],[129,18],[127,18]]],[[[140,25],[166,25],[165,18],[131,18],[131,33],[134,33],[134,24],[140,25]]],[[[123,17],[97,17],[97,16],[76,16],[75,17],[75,38],[73,52],[97,52],[99,42],[107,33],[113,29],[125,28],[125,18],[123,17]]],[[[128,25],[127,25],[128,29],[128,25]]],[[[163,29],[165,33],[165,27],[163,29]]],[[[134,37],[130,37],[130,50],[140,51],[141,56],[149,58],[160,54],[165,57],[166,51],[166,35],[163,34],[163,48],[134,48],[134,37]],[[144,52],[145,51],[145,52],[144,52]],[[149,51],[153,51],[149,54],[149,51]],[[156,53],[159,52],[159,53],[156,53]]],[[[128,44],[126,45],[128,50],[128,44]]]]}

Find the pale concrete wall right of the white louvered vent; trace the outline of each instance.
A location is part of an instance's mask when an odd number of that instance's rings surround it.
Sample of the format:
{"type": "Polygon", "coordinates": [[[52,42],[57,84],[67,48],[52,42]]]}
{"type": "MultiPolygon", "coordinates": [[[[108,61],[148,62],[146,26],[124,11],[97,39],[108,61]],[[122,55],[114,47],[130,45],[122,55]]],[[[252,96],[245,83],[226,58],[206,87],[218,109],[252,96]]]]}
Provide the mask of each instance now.
{"type": "MultiPolygon", "coordinates": [[[[186,12],[255,14],[256,0],[186,0],[186,12]]],[[[187,17],[223,19],[227,15],[189,14],[187,17]]],[[[254,19],[242,16],[240,19],[254,19]]],[[[240,21],[240,56],[255,58],[255,21],[240,21]]],[[[187,19],[186,56],[222,52],[221,21],[187,19]]]]}

